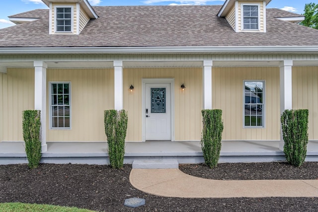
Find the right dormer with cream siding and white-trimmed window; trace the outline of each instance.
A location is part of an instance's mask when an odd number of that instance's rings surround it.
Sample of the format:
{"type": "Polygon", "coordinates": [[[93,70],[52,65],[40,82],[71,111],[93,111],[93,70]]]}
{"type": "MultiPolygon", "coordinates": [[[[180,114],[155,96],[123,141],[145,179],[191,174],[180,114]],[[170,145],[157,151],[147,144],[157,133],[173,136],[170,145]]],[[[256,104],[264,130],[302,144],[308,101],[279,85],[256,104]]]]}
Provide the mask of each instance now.
{"type": "Polygon", "coordinates": [[[236,32],[266,32],[266,5],[271,0],[226,0],[218,16],[236,32]]]}

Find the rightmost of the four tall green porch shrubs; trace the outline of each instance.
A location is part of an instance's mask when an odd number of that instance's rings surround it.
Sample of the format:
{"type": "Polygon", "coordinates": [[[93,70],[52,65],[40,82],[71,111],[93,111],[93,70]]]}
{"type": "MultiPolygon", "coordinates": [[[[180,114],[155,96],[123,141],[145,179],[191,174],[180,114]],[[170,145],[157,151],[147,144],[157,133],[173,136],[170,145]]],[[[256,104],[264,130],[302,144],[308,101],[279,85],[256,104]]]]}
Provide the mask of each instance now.
{"type": "Polygon", "coordinates": [[[308,110],[285,110],[281,116],[284,153],[289,164],[300,167],[308,144],[308,110]]]}

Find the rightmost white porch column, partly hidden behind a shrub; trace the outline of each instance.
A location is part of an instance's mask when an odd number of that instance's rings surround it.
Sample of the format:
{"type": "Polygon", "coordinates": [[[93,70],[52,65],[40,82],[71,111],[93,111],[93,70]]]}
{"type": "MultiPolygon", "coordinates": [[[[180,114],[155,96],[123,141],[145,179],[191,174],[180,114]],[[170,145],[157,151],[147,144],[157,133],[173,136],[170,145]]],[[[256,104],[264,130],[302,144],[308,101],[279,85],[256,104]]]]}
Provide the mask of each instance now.
{"type": "MultiPolygon", "coordinates": [[[[280,63],[280,114],[285,110],[293,109],[293,93],[292,93],[292,60],[284,60],[280,63]]],[[[280,129],[279,149],[284,150],[284,140],[282,128],[280,129]]]]}

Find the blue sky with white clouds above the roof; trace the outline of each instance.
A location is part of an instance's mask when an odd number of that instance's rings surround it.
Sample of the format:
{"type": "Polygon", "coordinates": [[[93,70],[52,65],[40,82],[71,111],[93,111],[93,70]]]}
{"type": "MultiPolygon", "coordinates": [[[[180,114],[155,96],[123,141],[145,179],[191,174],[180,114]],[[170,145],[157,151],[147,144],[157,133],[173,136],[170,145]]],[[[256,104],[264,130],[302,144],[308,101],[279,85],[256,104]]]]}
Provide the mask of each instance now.
{"type": "MultiPolygon", "coordinates": [[[[223,4],[225,0],[88,0],[93,6],[116,5],[212,5],[223,4]]],[[[272,0],[268,8],[280,8],[302,14],[306,3],[318,0],[272,0]]],[[[13,26],[7,16],[32,9],[48,8],[41,0],[0,0],[0,28],[13,26]]]]}

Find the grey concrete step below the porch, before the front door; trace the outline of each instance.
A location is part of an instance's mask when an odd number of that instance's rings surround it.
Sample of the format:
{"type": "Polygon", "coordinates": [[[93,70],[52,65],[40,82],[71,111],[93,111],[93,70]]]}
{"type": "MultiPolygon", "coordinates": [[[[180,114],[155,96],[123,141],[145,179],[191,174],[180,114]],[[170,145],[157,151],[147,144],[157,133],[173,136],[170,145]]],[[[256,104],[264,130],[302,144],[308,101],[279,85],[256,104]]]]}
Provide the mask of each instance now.
{"type": "Polygon", "coordinates": [[[177,169],[179,163],[177,159],[136,159],[133,162],[133,169],[177,169]]]}

